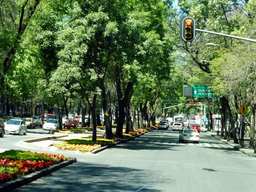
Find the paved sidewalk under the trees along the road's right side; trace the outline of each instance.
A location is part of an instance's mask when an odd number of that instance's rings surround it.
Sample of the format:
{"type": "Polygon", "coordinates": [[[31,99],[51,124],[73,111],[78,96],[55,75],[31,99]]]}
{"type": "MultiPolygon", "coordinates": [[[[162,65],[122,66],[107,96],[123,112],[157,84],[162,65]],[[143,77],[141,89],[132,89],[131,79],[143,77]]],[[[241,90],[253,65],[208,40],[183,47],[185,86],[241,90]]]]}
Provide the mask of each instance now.
{"type": "Polygon", "coordinates": [[[240,147],[239,144],[234,143],[233,139],[230,139],[230,141],[227,141],[227,140],[224,140],[224,137],[217,136],[216,132],[215,133],[207,132],[207,133],[215,137],[216,139],[222,141],[223,143],[226,143],[229,146],[232,146],[234,149],[239,150],[240,152],[244,153],[247,156],[256,157],[256,153],[254,153],[254,149],[248,149],[249,141],[250,141],[250,137],[248,136],[244,137],[244,147],[240,147]]]}

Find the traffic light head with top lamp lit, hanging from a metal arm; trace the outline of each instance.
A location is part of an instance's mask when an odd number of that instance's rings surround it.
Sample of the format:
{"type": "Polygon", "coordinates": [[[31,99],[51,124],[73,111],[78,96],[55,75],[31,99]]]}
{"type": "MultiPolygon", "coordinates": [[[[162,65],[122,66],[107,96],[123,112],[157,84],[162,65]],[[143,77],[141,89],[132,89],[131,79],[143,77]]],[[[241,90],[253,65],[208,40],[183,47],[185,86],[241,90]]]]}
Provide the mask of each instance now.
{"type": "Polygon", "coordinates": [[[185,42],[193,41],[196,36],[196,21],[193,17],[180,19],[180,39],[185,42]]]}

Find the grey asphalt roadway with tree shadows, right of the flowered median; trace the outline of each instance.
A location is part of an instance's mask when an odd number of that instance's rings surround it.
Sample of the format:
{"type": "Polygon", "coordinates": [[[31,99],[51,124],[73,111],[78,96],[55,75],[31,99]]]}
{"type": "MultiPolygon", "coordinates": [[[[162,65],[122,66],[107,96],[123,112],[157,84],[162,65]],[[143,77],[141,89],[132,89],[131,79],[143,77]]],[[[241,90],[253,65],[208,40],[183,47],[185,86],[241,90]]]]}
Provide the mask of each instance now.
{"type": "Polygon", "coordinates": [[[199,144],[180,143],[178,135],[154,130],[95,155],[33,149],[76,157],[77,163],[13,192],[255,191],[255,158],[206,132],[199,144]]]}

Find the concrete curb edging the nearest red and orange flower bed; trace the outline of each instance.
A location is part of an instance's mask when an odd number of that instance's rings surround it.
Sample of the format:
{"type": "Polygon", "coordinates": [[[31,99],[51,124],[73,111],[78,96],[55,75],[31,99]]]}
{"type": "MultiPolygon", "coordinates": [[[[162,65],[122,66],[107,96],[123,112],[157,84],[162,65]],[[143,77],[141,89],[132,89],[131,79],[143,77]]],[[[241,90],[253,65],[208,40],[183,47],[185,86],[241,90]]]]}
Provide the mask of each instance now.
{"type": "Polygon", "coordinates": [[[36,172],[33,172],[29,175],[25,175],[21,178],[18,178],[16,180],[12,180],[12,181],[9,181],[9,182],[6,182],[6,183],[3,183],[0,185],[0,191],[1,192],[8,192],[8,191],[11,191],[15,188],[19,188],[23,185],[26,185],[30,182],[33,182],[43,176],[46,176],[52,172],[55,172],[57,170],[59,170],[60,168],[62,167],[65,167],[67,165],[70,165],[70,164],[73,164],[76,162],[76,158],[73,158],[73,157],[67,157],[68,160],[66,161],[63,161],[59,164],[56,164],[56,165],[52,165],[48,168],[45,168],[45,169],[42,169],[40,171],[36,171],[36,172]]]}

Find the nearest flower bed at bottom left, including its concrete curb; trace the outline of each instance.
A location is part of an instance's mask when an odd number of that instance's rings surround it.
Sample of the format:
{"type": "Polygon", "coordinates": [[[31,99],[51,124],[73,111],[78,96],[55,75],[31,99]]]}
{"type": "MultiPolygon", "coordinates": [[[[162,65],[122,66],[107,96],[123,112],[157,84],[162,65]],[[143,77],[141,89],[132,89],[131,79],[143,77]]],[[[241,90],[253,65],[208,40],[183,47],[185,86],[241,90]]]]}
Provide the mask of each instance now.
{"type": "Polygon", "coordinates": [[[0,191],[10,191],[61,167],[76,162],[76,158],[21,150],[0,153],[0,191]]]}

